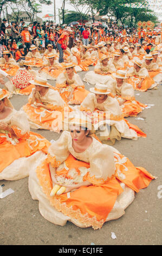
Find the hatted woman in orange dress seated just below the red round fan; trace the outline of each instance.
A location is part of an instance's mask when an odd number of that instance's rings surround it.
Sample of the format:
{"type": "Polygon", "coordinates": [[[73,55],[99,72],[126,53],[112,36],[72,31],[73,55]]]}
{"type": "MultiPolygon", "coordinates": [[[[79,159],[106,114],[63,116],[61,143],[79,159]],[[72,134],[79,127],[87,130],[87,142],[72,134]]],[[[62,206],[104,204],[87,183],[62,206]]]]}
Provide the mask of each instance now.
{"type": "Polygon", "coordinates": [[[64,113],[71,109],[60,94],[47,83],[47,80],[35,77],[35,80],[30,83],[34,84],[35,88],[29,95],[28,103],[22,107],[28,117],[30,127],[60,133],[64,113]]]}

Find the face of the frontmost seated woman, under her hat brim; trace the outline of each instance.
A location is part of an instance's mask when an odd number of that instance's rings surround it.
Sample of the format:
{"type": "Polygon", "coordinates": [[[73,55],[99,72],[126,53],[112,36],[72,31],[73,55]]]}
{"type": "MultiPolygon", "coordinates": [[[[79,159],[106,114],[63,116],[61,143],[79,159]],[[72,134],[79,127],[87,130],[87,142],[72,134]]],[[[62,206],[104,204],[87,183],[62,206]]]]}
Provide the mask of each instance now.
{"type": "Polygon", "coordinates": [[[88,135],[88,131],[83,130],[80,126],[70,126],[70,135],[72,136],[73,141],[81,143],[84,141],[88,135]]]}

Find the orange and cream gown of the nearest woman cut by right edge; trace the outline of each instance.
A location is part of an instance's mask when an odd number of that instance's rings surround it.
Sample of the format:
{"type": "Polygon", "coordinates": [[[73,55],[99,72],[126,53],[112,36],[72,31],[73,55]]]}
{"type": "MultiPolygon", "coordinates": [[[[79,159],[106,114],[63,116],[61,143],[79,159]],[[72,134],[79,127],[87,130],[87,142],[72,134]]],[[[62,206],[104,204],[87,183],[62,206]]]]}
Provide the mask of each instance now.
{"type": "Polygon", "coordinates": [[[149,76],[153,79],[154,82],[160,83],[162,81],[162,70],[159,68],[157,63],[151,62],[150,65],[147,65],[144,61],[142,68],[147,69],[149,76]]]}

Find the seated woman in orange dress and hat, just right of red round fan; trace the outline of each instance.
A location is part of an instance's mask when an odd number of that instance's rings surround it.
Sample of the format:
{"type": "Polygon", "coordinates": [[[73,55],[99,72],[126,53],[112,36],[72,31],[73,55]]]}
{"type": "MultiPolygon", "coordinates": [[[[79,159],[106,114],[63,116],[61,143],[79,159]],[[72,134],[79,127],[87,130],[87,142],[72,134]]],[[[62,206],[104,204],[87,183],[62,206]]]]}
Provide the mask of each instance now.
{"type": "Polygon", "coordinates": [[[55,89],[65,102],[79,105],[89,92],[85,89],[80,76],[75,73],[74,66],[73,63],[64,65],[66,71],[57,77],[55,89]]]}

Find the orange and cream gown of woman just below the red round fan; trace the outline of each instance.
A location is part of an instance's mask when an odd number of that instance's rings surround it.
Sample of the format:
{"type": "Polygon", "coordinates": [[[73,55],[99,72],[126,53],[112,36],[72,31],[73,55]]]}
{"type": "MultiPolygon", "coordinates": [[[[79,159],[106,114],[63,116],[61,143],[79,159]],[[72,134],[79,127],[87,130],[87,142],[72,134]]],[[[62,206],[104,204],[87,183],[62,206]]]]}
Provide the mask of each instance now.
{"type": "Polygon", "coordinates": [[[32,102],[33,90],[29,95],[28,103],[22,107],[22,110],[28,117],[30,127],[33,129],[60,132],[64,111],[69,109],[69,107],[62,100],[60,94],[51,88],[48,89],[48,92],[44,96],[41,96],[40,93],[36,95],[36,103],[42,103],[50,109],[35,106],[32,102]]]}

